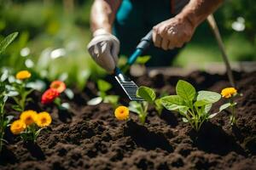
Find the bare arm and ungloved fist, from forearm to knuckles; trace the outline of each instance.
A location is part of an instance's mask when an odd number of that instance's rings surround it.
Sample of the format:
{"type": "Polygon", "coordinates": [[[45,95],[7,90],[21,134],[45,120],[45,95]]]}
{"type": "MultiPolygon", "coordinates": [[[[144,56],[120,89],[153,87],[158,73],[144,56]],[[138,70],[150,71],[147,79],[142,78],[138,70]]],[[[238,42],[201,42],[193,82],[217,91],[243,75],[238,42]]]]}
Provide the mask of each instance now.
{"type": "Polygon", "coordinates": [[[224,0],[190,0],[182,12],[153,28],[153,42],[165,50],[181,48],[189,42],[195,28],[207,19],[224,0]]]}

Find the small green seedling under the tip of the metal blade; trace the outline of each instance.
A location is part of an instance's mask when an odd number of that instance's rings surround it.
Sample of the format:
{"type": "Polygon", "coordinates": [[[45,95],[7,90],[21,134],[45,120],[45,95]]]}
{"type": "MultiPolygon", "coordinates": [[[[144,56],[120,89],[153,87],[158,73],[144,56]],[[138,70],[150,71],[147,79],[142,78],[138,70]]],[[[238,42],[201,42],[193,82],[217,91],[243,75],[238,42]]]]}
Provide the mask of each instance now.
{"type": "Polygon", "coordinates": [[[148,105],[153,105],[160,116],[163,106],[160,103],[160,99],[155,99],[156,95],[152,88],[141,86],[137,89],[137,96],[145,99],[145,101],[131,101],[129,104],[129,109],[130,111],[138,114],[139,120],[142,124],[145,123],[146,117],[148,116],[148,105]]]}

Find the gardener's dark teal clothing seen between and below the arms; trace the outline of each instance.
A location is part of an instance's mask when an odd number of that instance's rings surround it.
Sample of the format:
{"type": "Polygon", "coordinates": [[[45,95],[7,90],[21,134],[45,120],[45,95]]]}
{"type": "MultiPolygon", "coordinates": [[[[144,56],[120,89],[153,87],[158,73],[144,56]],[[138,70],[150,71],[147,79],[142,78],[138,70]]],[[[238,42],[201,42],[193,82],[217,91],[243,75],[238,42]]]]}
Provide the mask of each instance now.
{"type": "MultiPolygon", "coordinates": [[[[173,16],[170,0],[123,0],[113,24],[113,34],[120,41],[120,54],[129,57],[153,26],[173,16]]],[[[177,49],[165,51],[152,44],[143,55],[151,56],[148,66],[169,66],[177,49]]]]}

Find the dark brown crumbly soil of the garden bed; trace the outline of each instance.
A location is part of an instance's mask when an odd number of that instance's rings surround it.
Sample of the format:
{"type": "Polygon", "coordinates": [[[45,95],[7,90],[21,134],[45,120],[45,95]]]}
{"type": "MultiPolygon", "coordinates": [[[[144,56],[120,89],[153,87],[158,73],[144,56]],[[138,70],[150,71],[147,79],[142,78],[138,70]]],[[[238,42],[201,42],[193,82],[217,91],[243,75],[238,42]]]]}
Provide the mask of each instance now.
{"type": "MultiPolygon", "coordinates": [[[[256,72],[235,75],[243,94],[237,99],[237,126],[230,126],[230,112],[223,111],[205,122],[200,133],[166,110],[159,117],[150,109],[145,126],[133,113],[129,122],[119,122],[111,105],[86,105],[96,95],[93,82],[84,93],[75,91],[69,112],[43,106],[40,94],[33,94],[34,103],[27,109],[51,112],[53,123],[38,137],[38,144],[24,144],[7,132],[9,145],[3,148],[0,169],[256,169],[256,72]]],[[[158,94],[174,94],[178,79],[197,90],[220,92],[229,86],[227,77],[200,71],[188,77],[157,75],[135,81],[158,94]]]]}

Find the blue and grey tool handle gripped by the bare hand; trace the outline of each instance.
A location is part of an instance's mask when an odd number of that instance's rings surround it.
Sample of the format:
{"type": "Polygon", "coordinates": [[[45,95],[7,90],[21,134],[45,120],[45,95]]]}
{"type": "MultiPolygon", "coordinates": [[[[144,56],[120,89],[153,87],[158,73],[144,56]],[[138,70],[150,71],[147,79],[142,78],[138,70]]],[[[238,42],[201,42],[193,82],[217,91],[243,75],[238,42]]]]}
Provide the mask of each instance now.
{"type": "Polygon", "coordinates": [[[152,34],[153,30],[149,31],[148,34],[142,38],[141,42],[137,44],[135,52],[131,54],[130,58],[127,61],[127,65],[132,65],[136,61],[137,57],[143,54],[143,52],[149,47],[151,42],[153,42],[152,34]]]}

